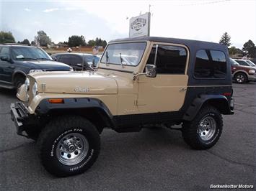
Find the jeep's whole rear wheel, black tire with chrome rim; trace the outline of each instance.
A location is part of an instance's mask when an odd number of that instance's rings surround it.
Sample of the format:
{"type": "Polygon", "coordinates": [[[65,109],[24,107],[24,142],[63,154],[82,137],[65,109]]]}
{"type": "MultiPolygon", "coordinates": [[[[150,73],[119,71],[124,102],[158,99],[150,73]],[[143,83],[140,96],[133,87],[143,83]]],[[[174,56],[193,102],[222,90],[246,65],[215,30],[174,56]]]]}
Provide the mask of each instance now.
{"type": "Polygon", "coordinates": [[[205,106],[193,121],[182,124],[182,136],[193,149],[209,149],[219,140],[222,126],[221,113],[212,106],[205,106]]]}

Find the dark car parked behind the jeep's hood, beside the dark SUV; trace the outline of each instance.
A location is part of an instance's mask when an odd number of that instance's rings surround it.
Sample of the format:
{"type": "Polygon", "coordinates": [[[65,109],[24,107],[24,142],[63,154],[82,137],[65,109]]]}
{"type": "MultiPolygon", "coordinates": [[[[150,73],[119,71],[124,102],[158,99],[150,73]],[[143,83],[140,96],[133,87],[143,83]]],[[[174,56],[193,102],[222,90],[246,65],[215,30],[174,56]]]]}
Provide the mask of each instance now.
{"type": "Polygon", "coordinates": [[[97,65],[100,56],[85,53],[58,53],[51,55],[53,60],[63,62],[73,67],[74,70],[92,70],[92,66],[97,65]]]}

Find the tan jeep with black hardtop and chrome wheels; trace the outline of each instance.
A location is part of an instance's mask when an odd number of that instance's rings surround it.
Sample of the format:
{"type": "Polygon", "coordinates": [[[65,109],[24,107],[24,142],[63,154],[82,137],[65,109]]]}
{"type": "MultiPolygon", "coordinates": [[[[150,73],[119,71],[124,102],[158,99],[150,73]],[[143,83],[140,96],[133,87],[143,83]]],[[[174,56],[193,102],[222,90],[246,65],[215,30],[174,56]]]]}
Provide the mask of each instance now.
{"type": "Polygon", "coordinates": [[[56,176],[91,167],[105,128],[180,124],[187,144],[208,149],[221,136],[221,114],[234,113],[227,48],[162,37],[113,40],[94,71],[31,73],[17,97],[17,133],[37,140],[56,176]]]}

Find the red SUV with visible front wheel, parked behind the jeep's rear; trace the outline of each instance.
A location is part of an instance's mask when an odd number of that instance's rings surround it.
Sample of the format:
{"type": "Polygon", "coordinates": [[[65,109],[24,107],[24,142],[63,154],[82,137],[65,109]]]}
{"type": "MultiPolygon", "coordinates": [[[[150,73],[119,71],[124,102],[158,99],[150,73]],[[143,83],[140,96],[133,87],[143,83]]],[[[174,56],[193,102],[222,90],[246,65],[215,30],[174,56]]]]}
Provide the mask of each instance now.
{"type": "Polygon", "coordinates": [[[256,68],[252,66],[239,65],[238,62],[230,58],[231,73],[236,83],[247,83],[256,80],[256,68]]]}

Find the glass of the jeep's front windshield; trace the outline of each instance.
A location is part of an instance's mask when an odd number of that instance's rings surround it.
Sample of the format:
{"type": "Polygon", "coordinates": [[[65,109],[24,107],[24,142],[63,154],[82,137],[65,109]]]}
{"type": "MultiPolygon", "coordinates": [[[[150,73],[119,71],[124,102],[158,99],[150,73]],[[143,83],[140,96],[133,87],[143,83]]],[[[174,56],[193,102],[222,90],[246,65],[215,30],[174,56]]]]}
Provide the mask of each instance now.
{"type": "Polygon", "coordinates": [[[144,54],[146,42],[123,42],[107,46],[100,62],[106,65],[137,66],[144,54]]]}

